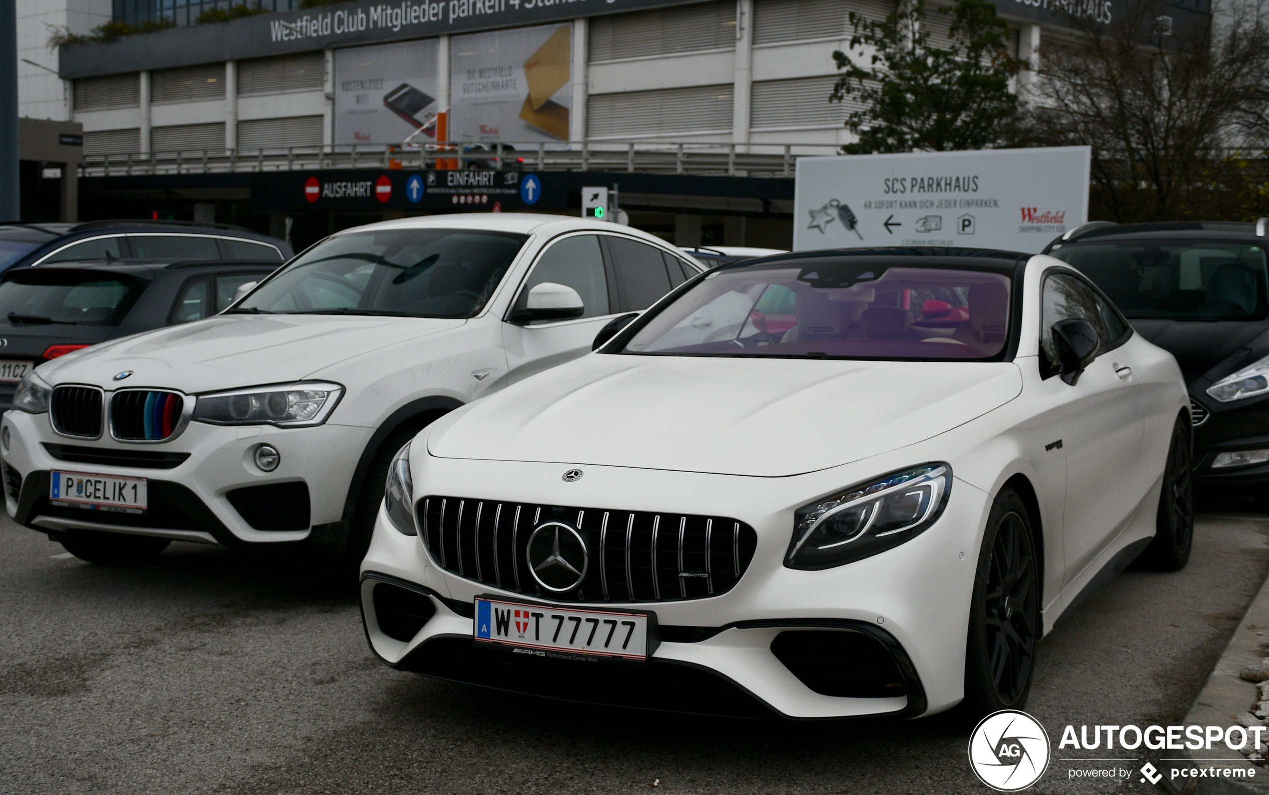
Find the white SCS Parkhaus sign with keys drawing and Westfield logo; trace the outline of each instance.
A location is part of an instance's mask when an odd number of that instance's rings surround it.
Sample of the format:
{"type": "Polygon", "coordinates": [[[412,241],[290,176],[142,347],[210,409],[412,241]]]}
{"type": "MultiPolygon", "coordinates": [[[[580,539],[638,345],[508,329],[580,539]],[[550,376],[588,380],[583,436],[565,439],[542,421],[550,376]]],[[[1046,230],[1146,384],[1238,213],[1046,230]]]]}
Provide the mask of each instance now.
{"type": "Polygon", "coordinates": [[[1088,220],[1088,146],[799,157],[793,250],[1037,253],[1088,220]]]}

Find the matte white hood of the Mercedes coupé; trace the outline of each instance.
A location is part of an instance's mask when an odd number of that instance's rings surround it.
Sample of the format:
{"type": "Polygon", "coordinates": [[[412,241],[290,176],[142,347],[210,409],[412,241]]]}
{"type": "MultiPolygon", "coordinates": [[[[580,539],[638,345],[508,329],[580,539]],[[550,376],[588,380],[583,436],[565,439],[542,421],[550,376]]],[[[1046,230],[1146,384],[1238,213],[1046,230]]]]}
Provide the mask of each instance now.
{"type": "Polygon", "coordinates": [[[1020,391],[1003,362],[591,354],[442,420],[428,451],[778,478],[914,444],[1020,391]]]}

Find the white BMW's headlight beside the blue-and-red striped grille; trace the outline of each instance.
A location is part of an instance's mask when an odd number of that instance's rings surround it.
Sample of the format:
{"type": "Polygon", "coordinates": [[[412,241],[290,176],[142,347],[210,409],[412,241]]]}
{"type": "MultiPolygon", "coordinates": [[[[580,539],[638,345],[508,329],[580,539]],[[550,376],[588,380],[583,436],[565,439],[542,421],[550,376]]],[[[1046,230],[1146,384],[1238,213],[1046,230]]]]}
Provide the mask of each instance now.
{"type": "Polygon", "coordinates": [[[301,382],[199,395],[194,419],[213,425],[320,425],[343,394],[338,384],[301,382]]]}

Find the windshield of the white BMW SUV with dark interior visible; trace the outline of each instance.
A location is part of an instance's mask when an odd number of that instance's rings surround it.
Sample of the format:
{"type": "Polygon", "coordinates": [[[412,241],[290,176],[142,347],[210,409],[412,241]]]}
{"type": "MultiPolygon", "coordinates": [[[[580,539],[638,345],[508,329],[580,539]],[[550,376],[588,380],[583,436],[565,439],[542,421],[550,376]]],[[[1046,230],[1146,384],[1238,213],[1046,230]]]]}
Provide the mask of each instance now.
{"type": "Polygon", "coordinates": [[[230,311],[471,317],[527,239],[453,229],[339,235],[302,254],[230,311]]]}

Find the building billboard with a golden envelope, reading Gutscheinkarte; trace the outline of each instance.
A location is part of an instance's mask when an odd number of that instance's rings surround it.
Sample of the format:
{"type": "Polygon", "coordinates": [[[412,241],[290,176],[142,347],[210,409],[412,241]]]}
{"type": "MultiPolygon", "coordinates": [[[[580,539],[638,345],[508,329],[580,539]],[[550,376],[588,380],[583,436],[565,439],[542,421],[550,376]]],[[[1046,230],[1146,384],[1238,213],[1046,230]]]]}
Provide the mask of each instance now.
{"type": "Polygon", "coordinates": [[[572,23],[449,39],[452,141],[567,141],[572,23]]]}

